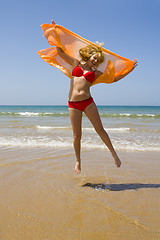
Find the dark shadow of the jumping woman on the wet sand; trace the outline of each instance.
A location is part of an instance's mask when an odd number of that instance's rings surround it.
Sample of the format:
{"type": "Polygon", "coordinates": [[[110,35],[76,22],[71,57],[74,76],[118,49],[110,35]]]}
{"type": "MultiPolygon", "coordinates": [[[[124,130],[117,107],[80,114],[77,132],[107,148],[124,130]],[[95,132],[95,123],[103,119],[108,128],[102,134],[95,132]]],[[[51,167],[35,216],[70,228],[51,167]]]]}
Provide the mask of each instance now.
{"type": "Polygon", "coordinates": [[[160,184],[143,183],[122,183],[122,184],[104,184],[104,183],[85,183],[82,187],[90,187],[97,190],[124,191],[138,190],[140,188],[160,188],[160,184]]]}

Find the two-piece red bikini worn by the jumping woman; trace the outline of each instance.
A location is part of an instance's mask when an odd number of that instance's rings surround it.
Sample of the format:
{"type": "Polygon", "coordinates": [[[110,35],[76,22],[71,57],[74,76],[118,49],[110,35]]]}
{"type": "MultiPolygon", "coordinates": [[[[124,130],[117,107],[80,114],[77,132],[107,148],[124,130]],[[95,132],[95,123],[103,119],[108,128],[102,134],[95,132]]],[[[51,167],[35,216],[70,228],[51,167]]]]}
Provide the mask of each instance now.
{"type": "MultiPolygon", "coordinates": [[[[94,72],[86,72],[85,74],[83,74],[83,69],[80,66],[77,66],[73,69],[72,76],[75,76],[75,77],[84,76],[85,79],[90,83],[92,83],[95,79],[94,72]]],[[[86,107],[88,107],[92,102],[93,102],[92,97],[82,101],[68,101],[68,107],[78,109],[80,111],[84,111],[86,107]]]]}

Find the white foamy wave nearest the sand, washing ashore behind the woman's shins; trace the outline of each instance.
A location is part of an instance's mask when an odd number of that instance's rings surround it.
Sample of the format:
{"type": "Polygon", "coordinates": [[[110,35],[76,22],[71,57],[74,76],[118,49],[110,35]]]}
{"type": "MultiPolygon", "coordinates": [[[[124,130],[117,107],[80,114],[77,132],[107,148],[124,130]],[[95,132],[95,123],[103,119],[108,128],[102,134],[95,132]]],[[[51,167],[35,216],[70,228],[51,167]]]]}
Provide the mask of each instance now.
{"type": "MultiPolygon", "coordinates": [[[[157,142],[148,141],[127,141],[127,140],[112,140],[116,150],[120,151],[158,151],[160,145],[157,142]]],[[[51,139],[48,137],[0,137],[0,147],[4,148],[73,148],[71,138],[51,139]]],[[[96,139],[82,140],[82,150],[108,150],[103,142],[96,139]]]]}

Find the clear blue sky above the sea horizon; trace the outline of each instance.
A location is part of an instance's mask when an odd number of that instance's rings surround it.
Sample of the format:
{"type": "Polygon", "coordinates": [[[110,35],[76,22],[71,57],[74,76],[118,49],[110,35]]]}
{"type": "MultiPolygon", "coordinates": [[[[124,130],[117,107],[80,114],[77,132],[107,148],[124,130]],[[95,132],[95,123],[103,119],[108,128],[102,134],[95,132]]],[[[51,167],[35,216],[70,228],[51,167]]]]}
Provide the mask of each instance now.
{"type": "Polygon", "coordinates": [[[43,62],[40,25],[59,25],[138,67],[115,84],[91,88],[98,105],[160,105],[159,0],[3,1],[0,7],[0,105],[66,105],[69,79],[43,62]]]}

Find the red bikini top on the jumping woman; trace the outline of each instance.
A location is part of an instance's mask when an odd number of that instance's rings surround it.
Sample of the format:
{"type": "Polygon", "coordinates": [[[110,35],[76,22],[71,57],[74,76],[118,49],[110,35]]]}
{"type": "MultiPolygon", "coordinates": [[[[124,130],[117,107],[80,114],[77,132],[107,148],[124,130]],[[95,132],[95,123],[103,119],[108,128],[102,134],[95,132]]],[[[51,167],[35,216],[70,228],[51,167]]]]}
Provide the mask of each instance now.
{"type": "Polygon", "coordinates": [[[88,82],[92,83],[95,79],[95,72],[86,72],[85,74],[83,74],[83,69],[80,66],[77,66],[73,69],[72,76],[84,76],[88,82]]]}

